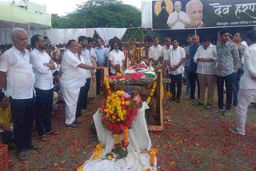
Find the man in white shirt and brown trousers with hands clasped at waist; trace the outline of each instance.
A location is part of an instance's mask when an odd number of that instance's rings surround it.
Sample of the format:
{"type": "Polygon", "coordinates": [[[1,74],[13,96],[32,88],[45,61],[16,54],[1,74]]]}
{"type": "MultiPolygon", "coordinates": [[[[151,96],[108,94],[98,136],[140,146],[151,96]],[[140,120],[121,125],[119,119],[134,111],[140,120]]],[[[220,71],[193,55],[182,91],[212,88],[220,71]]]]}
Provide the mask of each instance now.
{"type": "Polygon", "coordinates": [[[198,81],[200,87],[200,97],[198,103],[204,103],[206,85],[208,87],[208,97],[206,109],[210,109],[214,102],[214,85],[215,85],[215,66],[217,60],[216,46],[210,43],[210,38],[202,38],[202,46],[198,47],[194,55],[194,62],[198,63],[198,81]]]}

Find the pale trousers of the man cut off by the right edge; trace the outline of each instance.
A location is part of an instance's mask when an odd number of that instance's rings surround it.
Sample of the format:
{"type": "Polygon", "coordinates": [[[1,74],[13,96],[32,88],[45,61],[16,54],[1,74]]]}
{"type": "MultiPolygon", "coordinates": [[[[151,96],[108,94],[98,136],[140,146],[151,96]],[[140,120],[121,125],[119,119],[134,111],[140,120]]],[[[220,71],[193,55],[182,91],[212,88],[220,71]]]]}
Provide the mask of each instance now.
{"type": "Polygon", "coordinates": [[[237,106],[237,130],[238,133],[246,133],[247,108],[256,97],[256,89],[239,89],[237,106]]]}

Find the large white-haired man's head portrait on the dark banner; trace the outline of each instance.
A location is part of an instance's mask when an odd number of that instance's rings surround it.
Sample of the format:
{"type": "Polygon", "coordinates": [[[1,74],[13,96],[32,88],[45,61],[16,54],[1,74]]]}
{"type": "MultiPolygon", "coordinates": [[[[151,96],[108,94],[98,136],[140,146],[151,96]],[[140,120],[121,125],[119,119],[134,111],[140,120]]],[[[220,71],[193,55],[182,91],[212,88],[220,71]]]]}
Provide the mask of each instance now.
{"type": "Polygon", "coordinates": [[[202,22],[202,7],[202,2],[199,0],[191,0],[186,3],[186,14],[188,14],[190,18],[188,27],[200,28],[205,26],[202,22]]]}

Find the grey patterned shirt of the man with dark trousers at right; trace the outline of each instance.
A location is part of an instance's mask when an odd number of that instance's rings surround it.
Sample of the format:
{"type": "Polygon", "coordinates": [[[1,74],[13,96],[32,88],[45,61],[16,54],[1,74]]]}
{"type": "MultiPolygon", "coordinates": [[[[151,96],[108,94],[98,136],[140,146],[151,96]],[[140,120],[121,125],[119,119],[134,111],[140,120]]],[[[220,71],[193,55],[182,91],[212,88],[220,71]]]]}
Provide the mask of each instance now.
{"type": "Polygon", "coordinates": [[[220,77],[235,73],[240,62],[238,47],[234,43],[226,42],[225,46],[221,43],[217,45],[217,68],[216,74],[220,77]]]}

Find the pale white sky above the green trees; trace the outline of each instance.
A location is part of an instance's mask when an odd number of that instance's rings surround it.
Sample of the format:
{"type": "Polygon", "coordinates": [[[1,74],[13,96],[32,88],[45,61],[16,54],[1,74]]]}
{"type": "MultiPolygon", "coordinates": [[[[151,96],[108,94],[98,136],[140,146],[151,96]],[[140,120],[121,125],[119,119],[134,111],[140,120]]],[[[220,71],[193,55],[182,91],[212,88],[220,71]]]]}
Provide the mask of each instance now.
{"type": "MultiPolygon", "coordinates": [[[[86,0],[29,0],[38,4],[46,5],[46,12],[48,14],[58,14],[60,16],[66,15],[67,13],[73,12],[77,8],[77,4],[80,5],[86,0]]],[[[140,0],[122,0],[123,3],[131,6],[136,6],[138,9],[141,8],[140,0]]]]}

